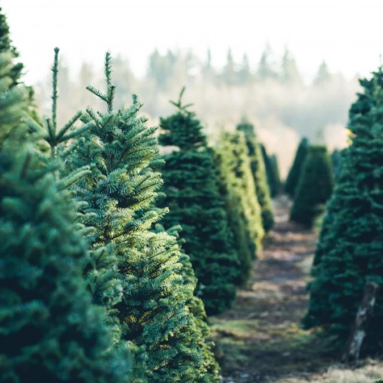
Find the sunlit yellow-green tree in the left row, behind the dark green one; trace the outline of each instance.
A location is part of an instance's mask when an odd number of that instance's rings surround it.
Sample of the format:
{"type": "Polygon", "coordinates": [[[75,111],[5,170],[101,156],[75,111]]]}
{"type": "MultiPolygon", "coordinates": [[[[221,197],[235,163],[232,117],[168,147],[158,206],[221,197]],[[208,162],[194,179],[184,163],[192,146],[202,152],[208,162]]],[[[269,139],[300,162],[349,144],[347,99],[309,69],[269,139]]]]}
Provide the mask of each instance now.
{"type": "Polygon", "coordinates": [[[265,232],[243,132],[225,133],[221,137],[216,148],[216,164],[221,194],[225,197],[229,225],[241,261],[241,284],[247,285],[265,232]]]}

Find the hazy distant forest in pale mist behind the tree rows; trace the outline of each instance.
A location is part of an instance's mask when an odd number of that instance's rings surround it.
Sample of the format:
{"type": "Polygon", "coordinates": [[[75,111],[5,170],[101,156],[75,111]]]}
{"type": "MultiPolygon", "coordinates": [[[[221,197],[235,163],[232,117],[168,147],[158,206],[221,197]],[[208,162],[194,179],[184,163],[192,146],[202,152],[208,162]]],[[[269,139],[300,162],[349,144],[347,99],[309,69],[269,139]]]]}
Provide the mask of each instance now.
{"type": "MultiPolygon", "coordinates": [[[[143,112],[157,125],[160,116],[174,112],[169,100],[176,100],[186,86],[184,101],[193,103],[211,143],[224,130],[233,130],[241,118],[254,123],[257,134],[269,153],[275,153],[284,177],[301,137],[326,142],[330,150],[346,145],[346,123],[350,104],[358,90],[357,77],[346,79],[331,74],[325,62],[317,74],[305,82],[293,54],[285,50],[275,57],[269,45],[255,68],[244,54],[234,60],[228,50],[226,63],[212,65],[212,51],[199,57],[193,51],[151,53],[144,76],[136,76],[129,60],[113,58],[113,81],[117,85],[117,107],[132,102],[137,94],[144,103],[143,112]]],[[[35,84],[36,103],[42,113],[50,109],[50,73],[35,84]]],[[[99,108],[87,85],[103,86],[102,71],[84,62],[76,73],[62,56],[59,71],[58,121],[65,122],[78,108],[99,108]]]]}

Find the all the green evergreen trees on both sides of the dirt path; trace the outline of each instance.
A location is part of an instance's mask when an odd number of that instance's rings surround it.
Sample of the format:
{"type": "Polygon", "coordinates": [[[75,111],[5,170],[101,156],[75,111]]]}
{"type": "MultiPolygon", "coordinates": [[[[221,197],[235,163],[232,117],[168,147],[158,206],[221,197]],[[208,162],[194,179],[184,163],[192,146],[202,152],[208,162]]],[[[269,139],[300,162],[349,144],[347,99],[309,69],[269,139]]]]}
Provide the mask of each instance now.
{"type": "MultiPolygon", "coordinates": [[[[109,53],[104,88],[87,87],[104,108],[58,126],[59,50],[40,117],[4,15],[0,30],[0,381],[221,381],[206,313],[248,287],[282,189],[276,156],[246,118],[210,147],[185,89],[159,129],[136,95],[115,108],[109,53]]],[[[361,84],[350,146],[331,158],[302,140],[285,185],[292,220],[324,214],[303,325],[334,348],[383,277],[381,68],[361,84]]],[[[382,315],[377,296],[364,355],[381,350],[382,315]]]]}

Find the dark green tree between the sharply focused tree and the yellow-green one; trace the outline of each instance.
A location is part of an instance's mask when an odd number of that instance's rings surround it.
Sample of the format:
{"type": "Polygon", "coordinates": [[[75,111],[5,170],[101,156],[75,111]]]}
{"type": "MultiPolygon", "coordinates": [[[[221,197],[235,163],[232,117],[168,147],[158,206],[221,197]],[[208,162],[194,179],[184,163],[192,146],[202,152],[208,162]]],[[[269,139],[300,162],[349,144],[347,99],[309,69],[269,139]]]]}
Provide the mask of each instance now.
{"type": "Polygon", "coordinates": [[[178,111],[160,119],[160,144],[180,149],[163,157],[161,206],[171,210],[163,222],[169,227],[182,225],[183,249],[192,261],[206,311],[220,313],[235,299],[239,262],[219,194],[213,153],[201,123],[187,110],[188,105],[182,106],[182,93],[175,103],[178,111]]]}

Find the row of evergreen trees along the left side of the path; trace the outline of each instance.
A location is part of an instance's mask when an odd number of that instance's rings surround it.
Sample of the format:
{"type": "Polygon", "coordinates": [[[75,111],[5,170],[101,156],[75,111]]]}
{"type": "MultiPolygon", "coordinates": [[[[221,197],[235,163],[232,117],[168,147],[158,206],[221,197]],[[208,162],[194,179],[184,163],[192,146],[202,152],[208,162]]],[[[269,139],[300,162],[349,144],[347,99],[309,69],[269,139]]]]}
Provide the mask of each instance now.
{"type": "Polygon", "coordinates": [[[209,148],[181,97],[159,156],[137,97],[114,106],[109,53],[105,90],[87,87],[103,107],[60,126],[55,49],[41,119],[0,21],[0,380],[218,382],[204,304],[249,281],[275,158],[245,121],[209,148]]]}

